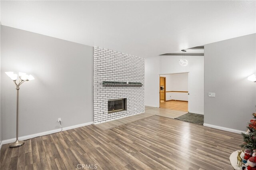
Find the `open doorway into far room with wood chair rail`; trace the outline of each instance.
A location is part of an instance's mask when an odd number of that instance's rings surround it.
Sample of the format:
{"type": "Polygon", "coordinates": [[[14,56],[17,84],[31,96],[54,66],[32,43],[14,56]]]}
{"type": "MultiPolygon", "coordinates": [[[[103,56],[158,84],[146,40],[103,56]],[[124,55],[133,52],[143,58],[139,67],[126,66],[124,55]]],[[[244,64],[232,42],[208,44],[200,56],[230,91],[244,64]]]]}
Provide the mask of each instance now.
{"type": "Polygon", "coordinates": [[[188,73],[160,75],[160,107],[188,112],[188,73]]]}

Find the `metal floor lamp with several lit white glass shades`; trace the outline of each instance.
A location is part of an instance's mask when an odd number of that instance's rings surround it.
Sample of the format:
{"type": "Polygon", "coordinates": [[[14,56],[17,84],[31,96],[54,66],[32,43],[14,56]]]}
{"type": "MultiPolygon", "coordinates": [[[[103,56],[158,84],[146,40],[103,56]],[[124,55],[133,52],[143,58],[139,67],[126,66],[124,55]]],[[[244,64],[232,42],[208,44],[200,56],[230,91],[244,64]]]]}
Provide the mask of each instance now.
{"type": "Polygon", "coordinates": [[[16,141],[10,144],[10,148],[18,147],[24,144],[24,140],[18,140],[18,130],[19,130],[19,90],[20,85],[25,81],[34,80],[35,78],[32,75],[26,75],[26,73],[19,72],[19,76],[14,74],[14,72],[5,72],[16,85],[17,90],[17,116],[16,116],[16,141]],[[19,78],[19,83],[16,83],[16,80],[19,78]]]}

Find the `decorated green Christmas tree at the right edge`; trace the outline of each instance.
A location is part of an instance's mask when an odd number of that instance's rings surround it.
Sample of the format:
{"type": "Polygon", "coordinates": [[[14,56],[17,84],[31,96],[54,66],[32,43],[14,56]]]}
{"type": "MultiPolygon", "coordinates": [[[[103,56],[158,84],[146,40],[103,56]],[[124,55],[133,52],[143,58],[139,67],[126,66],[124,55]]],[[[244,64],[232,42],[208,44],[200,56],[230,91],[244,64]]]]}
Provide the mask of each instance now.
{"type": "Polygon", "coordinates": [[[254,119],[248,123],[248,130],[246,133],[242,133],[244,137],[244,143],[240,146],[244,149],[254,150],[256,149],[256,113],[252,113],[254,119]]]}

